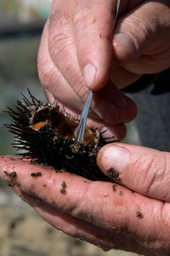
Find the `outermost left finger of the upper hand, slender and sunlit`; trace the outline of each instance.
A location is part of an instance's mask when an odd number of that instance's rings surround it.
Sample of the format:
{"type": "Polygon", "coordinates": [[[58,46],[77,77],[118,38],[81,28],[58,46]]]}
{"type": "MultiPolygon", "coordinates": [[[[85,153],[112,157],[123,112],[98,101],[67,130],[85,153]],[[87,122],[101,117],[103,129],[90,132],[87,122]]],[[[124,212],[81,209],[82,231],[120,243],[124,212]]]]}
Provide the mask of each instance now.
{"type": "Polygon", "coordinates": [[[37,68],[39,78],[44,87],[55,97],[64,103],[70,103],[72,108],[82,108],[83,101],[67,83],[48,52],[48,24],[46,23],[42,32],[42,39],[37,55],[37,68]],[[63,93],[63,92],[66,93],[63,93]],[[74,99],[74,101],[72,100],[74,99]]]}

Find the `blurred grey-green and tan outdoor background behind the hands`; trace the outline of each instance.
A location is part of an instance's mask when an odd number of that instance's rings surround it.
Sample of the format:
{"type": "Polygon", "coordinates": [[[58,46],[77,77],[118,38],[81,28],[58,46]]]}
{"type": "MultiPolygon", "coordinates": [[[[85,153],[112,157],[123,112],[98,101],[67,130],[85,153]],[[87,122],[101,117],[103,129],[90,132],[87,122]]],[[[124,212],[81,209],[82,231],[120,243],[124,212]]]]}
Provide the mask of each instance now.
{"type": "MultiPolygon", "coordinates": [[[[37,49],[42,27],[48,18],[52,0],[0,1],[0,155],[15,154],[10,145],[14,137],[3,128],[8,123],[6,106],[15,102],[29,88],[46,102],[37,76],[37,49]]],[[[126,142],[139,144],[134,123],[128,125],[126,142]]],[[[103,256],[135,255],[114,251],[104,253],[83,241],[55,230],[31,207],[14,195],[0,181],[0,255],[3,256],[103,256]]]]}

